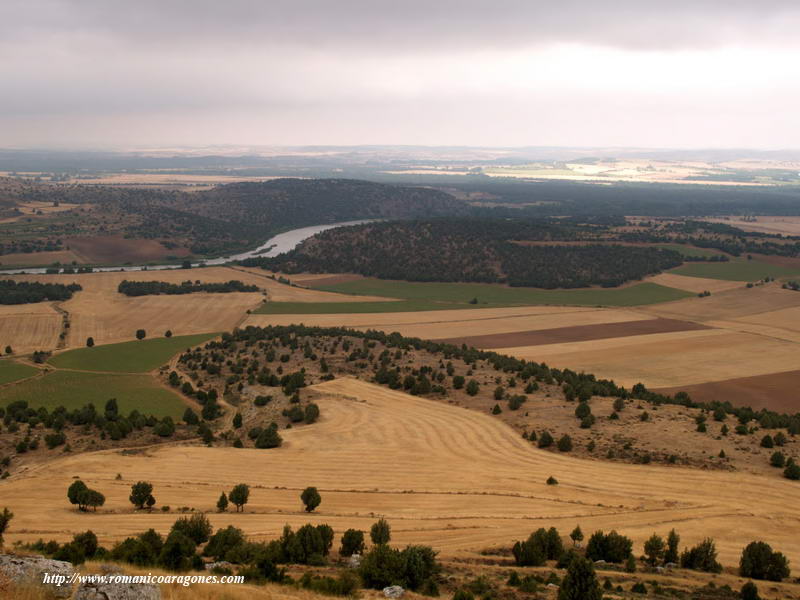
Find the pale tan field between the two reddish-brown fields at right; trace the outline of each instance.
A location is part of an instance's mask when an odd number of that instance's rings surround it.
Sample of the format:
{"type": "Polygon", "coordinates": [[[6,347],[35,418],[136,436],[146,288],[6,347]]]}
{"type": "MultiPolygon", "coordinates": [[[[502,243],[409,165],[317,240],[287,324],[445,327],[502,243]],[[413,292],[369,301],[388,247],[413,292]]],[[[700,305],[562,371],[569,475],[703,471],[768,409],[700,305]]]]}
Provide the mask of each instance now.
{"type": "Polygon", "coordinates": [[[502,348],[631,386],[672,387],[800,369],[797,344],[724,329],[502,348]]]}

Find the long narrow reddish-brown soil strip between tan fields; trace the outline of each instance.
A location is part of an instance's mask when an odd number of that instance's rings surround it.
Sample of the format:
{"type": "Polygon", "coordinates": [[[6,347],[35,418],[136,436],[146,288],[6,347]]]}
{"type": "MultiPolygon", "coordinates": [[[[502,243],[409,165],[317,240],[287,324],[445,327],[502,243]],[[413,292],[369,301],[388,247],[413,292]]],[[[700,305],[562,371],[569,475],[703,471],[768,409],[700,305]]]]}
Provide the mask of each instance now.
{"type": "Polygon", "coordinates": [[[576,325],[556,329],[517,331],[514,333],[495,333],[438,340],[450,344],[467,344],[476,348],[514,348],[516,346],[540,346],[542,344],[561,344],[564,342],[586,342],[606,338],[647,335],[651,333],[670,333],[673,331],[695,331],[710,329],[700,323],[679,321],[677,319],[648,319],[646,321],[624,321],[622,323],[601,323],[598,325],[576,325]]]}

